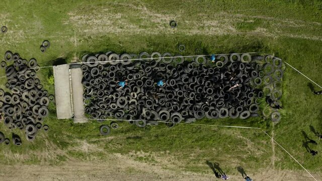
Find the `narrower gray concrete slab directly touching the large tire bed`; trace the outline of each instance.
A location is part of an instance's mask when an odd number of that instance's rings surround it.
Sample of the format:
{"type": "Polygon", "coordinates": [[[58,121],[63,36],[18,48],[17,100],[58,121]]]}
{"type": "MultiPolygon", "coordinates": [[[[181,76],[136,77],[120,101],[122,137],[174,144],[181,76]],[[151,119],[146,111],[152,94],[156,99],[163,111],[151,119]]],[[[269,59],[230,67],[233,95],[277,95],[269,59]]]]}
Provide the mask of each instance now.
{"type": "Polygon", "coordinates": [[[86,123],[88,120],[85,117],[85,107],[83,102],[83,71],[81,68],[72,68],[70,69],[70,73],[74,123],[86,123]]]}

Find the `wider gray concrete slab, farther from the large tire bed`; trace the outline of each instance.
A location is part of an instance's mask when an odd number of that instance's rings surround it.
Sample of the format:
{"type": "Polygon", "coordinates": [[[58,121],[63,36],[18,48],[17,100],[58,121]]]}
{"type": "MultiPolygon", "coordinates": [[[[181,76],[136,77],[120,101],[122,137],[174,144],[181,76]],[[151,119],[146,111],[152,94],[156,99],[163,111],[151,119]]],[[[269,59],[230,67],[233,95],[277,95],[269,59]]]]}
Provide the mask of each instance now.
{"type": "Polygon", "coordinates": [[[55,78],[55,102],[58,119],[72,117],[70,85],[69,85],[69,65],[53,66],[55,78]]]}

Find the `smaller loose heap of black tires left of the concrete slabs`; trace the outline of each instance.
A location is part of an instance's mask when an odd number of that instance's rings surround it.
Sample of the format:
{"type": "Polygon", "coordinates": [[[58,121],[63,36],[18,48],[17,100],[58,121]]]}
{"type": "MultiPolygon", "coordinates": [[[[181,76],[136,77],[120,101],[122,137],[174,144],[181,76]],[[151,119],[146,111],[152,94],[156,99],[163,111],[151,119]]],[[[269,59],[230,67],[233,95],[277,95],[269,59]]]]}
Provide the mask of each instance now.
{"type": "MultiPolygon", "coordinates": [[[[54,100],[53,95],[43,89],[40,79],[36,76],[38,65],[36,59],[29,61],[18,53],[7,51],[5,61],[0,63],[6,70],[10,92],[0,89],[0,113],[4,114],[4,124],[9,129],[21,129],[26,139],[33,141],[43,127],[43,120],[48,116],[48,105],[54,100]]],[[[48,130],[48,129],[47,129],[48,130]]]]}

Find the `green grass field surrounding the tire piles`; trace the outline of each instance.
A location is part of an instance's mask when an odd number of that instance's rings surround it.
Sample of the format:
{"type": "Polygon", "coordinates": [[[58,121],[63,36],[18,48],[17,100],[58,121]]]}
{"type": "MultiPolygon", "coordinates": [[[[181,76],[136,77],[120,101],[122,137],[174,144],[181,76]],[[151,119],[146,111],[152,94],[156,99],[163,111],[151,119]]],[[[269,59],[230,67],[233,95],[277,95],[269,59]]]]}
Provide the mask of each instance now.
{"type": "MultiPolygon", "coordinates": [[[[52,65],[58,57],[70,62],[87,52],[107,50],[179,53],[177,46],[184,44],[183,55],[194,55],[196,48],[202,48],[204,54],[266,52],[322,84],[321,1],[5,0],[0,7],[0,26],[8,27],[7,33],[0,33],[0,54],[7,50],[19,52],[23,58],[36,58],[41,66],[52,65]],[[170,20],[178,22],[176,29],[170,28],[170,20]],[[41,53],[39,47],[46,39],[51,46],[41,53]]],[[[0,76],[4,74],[1,70],[0,76]]],[[[53,93],[48,81],[52,70],[44,68],[37,75],[53,93]]],[[[5,87],[5,81],[0,79],[0,88],[5,87]]],[[[308,79],[286,67],[282,120],[278,124],[261,118],[199,123],[260,127],[321,179],[322,142],[309,126],[322,132],[322,97],[313,95],[307,83],[308,79]],[[319,152],[317,156],[312,157],[302,147],[301,131],[319,143],[311,146],[319,152]]],[[[194,125],[139,129],[123,123],[109,137],[102,137],[98,130],[101,124],[96,121],[75,125],[72,120],[57,120],[53,104],[50,112],[45,121],[50,126],[48,133],[41,133],[34,142],[23,139],[21,147],[0,145],[1,165],[62,165],[70,160],[89,162],[121,153],[135,161],[162,164],[164,169],[178,172],[210,173],[206,160],[219,162],[229,174],[237,174],[235,167],[239,165],[249,174],[266,169],[302,171],[262,130],[194,125]]],[[[11,134],[3,124],[0,131],[6,136],[11,134]]]]}

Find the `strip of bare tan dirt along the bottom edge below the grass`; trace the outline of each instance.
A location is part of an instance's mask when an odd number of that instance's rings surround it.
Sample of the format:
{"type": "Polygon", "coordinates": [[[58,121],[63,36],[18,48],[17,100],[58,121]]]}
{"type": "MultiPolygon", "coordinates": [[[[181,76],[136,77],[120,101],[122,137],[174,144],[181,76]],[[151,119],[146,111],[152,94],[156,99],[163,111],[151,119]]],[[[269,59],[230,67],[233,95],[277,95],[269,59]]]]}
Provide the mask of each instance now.
{"type": "MultiPolygon", "coordinates": [[[[208,169],[208,168],[207,168],[208,169]]],[[[162,165],[143,163],[128,155],[110,155],[104,161],[68,161],[60,166],[14,165],[3,166],[2,180],[215,180],[211,169],[209,173],[178,172],[164,169],[162,165]],[[17,171],[19,170],[19,171],[17,171]]],[[[240,174],[231,175],[230,180],[243,180],[240,174]]],[[[250,175],[254,180],[311,180],[304,172],[267,169],[250,175]]],[[[314,175],[320,179],[320,175],[314,175]],[[319,176],[319,177],[318,177],[319,176]]]]}

